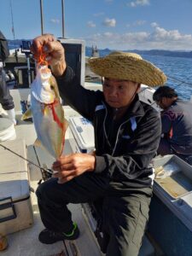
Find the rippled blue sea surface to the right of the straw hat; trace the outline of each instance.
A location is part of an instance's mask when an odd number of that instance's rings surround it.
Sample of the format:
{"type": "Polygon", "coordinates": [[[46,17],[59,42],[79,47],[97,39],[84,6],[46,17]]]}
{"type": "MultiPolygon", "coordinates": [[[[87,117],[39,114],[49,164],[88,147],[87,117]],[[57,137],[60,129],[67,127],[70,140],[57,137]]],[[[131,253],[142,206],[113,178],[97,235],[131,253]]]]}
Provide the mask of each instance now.
{"type": "Polygon", "coordinates": [[[192,96],[192,59],[160,55],[143,55],[142,57],[166,73],[166,85],[174,88],[180,99],[190,99],[192,96]]]}

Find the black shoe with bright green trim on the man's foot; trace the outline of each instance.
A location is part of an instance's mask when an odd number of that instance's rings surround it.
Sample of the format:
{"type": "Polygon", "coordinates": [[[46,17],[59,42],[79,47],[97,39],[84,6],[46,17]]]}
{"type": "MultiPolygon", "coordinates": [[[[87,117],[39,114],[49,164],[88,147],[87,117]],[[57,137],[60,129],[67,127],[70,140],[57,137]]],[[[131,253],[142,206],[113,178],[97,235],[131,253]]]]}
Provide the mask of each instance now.
{"type": "Polygon", "coordinates": [[[73,223],[73,230],[70,233],[55,232],[52,230],[42,230],[38,235],[38,240],[45,244],[52,244],[56,241],[75,240],[79,237],[79,228],[76,223],[73,223]]]}

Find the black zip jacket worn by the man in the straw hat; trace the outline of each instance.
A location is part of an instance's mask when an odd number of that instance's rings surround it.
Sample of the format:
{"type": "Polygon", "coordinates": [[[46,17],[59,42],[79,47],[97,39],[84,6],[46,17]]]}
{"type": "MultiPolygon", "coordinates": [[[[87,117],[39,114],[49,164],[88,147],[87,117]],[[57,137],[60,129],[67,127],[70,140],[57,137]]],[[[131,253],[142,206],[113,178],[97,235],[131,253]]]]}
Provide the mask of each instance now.
{"type": "Polygon", "coordinates": [[[57,83],[64,101],[89,119],[95,130],[96,170],[108,172],[112,183],[129,188],[151,186],[153,170],[149,166],[160,143],[160,115],[140,102],[138,96],[121,120],[113,146],[108,143],[106,127],[112,108],[105,102],[102,91],[86,90],[77,81],[73,70],[66,72],[57,83]]]}

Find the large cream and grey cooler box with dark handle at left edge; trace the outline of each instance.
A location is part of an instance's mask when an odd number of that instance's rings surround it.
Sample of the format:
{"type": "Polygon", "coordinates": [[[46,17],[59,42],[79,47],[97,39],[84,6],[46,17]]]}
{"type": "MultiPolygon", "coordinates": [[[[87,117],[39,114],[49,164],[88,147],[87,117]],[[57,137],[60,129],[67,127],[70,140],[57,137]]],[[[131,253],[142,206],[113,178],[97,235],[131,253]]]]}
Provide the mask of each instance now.
{"type": "MultiPolygon", "coordinates": [[[[26,143],[2,143],[26,158],[26,143]]],[[[26,160],[0,147],[0,233],[7,235],[32,226],[32,203],[26,160]]]]}

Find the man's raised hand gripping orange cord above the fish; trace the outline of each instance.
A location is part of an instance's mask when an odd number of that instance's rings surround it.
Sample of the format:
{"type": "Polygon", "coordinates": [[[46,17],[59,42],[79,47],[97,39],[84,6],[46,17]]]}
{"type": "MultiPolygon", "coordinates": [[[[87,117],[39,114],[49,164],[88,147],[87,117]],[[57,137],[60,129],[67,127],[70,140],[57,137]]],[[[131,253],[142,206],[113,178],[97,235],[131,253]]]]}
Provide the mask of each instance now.
{"type": "Polygon", "coordinates": [[[49,62],[52,72],[55,76],[61,76],[67,67],[65,51],[61,43],[53,35],[44,34],[32,41],[31,51],[34,55],[38,55],[40,48],[47,55],[46,61],[49,62]]]}

